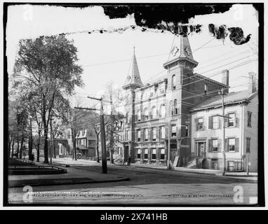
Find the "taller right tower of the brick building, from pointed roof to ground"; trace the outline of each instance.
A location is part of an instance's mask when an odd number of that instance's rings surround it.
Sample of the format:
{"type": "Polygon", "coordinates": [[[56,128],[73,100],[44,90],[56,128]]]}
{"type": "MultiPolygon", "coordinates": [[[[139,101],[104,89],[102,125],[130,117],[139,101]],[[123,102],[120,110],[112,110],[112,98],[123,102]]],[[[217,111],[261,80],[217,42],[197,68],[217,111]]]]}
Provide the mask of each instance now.
{"type": "MultiPolygon", "coordinates": [[[[192,50],[189,44],[188,36],[180,35],[177,45],[171,48],[168,61],[163,67],[168,71],[168,87],[166,90],[166,103],[168,104],[168,117],[170,125],[176,128],[176,138],[171,140],[170,151],[171,160],[175,156],[179,157],[180,165],[183,159],[189,156],[191,117],[189,110],[192,108],[192,99],[187,100],[194,93],[193,81],[194,68],[198,62],[194,60],[192,50]],[[187,130],[187,131],[186,131],[187,130]]],[[[169,127],[171,128],[171,127],[169,127]]]]}

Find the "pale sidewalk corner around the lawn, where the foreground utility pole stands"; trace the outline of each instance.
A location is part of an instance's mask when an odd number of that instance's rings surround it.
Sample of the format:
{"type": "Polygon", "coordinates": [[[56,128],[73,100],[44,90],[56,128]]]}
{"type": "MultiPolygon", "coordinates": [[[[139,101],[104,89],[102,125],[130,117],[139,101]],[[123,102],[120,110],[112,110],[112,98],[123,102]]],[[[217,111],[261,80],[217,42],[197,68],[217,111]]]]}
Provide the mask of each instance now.
{"type": "MultiPolygon", "coordinates": [[[[57,161],[58,162],[58,161],[57,161]]],[[[66,162],[66,161],[65,161],[66,162]]],[[[38,164],[38,163],[36,163],[38,164]]],[[[60,163],[58,163],[60,164],[60,163]]],[[[40,163],[40,165],[42,165],[40,163]]],[[[55,166],[55,164],[53,163],[55,166]]],[[[8,187],[22,186],[53,186],[63,184],[77,183],[101,183],[114,181],[127,181],[126,176],[114,174],[101,174],[99,172],[89,172],[88,170],[75,169],[65,167],[66,174],[51,174],[51,175],[10,175],[8,176],[8,187]]]]}

